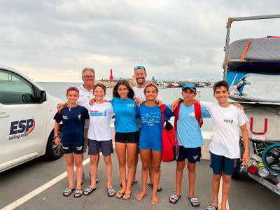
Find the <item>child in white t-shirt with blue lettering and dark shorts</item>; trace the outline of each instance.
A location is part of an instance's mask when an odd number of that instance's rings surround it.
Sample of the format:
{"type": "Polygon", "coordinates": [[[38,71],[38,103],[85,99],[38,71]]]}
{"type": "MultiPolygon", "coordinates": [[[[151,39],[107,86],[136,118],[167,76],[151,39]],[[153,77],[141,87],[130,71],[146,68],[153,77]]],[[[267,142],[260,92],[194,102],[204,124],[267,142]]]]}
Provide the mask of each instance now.
{"type": "Polygon", "coordinates": [[[106,87],[102,84],[94,85],[93,95],[94,104],[84,104],[85,108],[90,115],[90,127],[88,130],[88,154],[90,155],[90,174],[91,184],[85,188],[83,194],[90,195],[96,190],[96,176],[97,176],[97,160],[99,150],[101,149],[104,156],[104,162],[106,165],[107,176],[107,195],[113,197],[116,195],[116,191],[113,189],[112,180],[112,159],[111,153],[113,153],[112,144],[112,132],[110,127],[110,121],[114,114],[113,106],[110,102],[104,102],[104,96],[106,94],[106,87]]]}

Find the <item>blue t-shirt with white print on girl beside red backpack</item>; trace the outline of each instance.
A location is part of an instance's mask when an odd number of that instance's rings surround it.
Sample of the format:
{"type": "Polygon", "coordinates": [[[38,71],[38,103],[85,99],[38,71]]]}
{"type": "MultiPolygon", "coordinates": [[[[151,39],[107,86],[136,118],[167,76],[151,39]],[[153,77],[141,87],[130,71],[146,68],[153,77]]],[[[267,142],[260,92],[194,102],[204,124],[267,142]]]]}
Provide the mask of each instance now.
{"type": "MultiPolygon", "coordinates": [[[[166,106],[165,120],[169,120],[173,115],[172,111],[166,106]]],[[[162,142],[162,116],[158,106],[146,106],[141,104],[139,107],[139,116],[141,118],[141,142],[162,142]]]]}

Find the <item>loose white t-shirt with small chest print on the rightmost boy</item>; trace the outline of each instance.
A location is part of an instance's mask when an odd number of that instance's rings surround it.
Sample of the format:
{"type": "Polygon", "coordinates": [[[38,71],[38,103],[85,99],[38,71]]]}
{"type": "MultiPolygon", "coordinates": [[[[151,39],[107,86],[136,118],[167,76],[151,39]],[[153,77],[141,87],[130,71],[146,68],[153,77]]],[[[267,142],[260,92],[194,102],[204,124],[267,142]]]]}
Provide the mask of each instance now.
{"type": "Polygon", "coordinates": [[[224,108],[211,102],[200,104],[206,106],[213,122],[213,137],[209,151],[231,159],[240,158],[239,126],[248,121],[244,111],[233,105],[224,108]]]}

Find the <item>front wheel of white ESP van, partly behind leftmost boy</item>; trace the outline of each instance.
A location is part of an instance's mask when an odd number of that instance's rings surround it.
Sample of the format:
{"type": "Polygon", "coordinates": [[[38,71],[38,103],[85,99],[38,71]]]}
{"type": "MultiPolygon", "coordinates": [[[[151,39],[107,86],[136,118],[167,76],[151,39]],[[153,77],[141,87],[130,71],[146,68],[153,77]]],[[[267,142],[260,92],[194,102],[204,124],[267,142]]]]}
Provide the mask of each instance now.
{"type": "MultiPolygon", "coordinates": [[[[59,137],[60,137],[61,131],[59,129],[59,137]]],[[[62,144],[56,145],[55,141],[53,141],[54,132],[52,131],[50,133],[50,137],[48,137],[48,143],[47,147],[45,149],[45,156],[49,160],[57,160],[59,159],[63,153],[62,153],[62,144]]]]}

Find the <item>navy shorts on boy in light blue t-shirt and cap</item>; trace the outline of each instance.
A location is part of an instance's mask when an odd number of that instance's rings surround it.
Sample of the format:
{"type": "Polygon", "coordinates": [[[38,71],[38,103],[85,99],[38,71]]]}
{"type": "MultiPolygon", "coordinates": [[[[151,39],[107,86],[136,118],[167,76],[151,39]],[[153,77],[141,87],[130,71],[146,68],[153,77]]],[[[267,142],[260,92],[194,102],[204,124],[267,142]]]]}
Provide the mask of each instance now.
{"type": "Polygon", "coordinates": [[[196,148],[185,148],[184,146],[179,146],[179,157],[177,161],[183,161],[188,159],[188,162],[195,163],[200,161],[201,158],[201,147],[196,148]]]}

